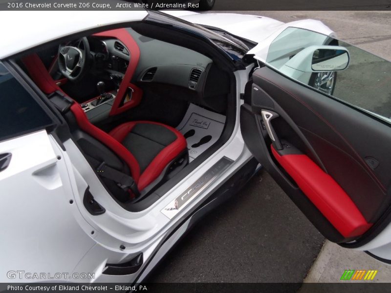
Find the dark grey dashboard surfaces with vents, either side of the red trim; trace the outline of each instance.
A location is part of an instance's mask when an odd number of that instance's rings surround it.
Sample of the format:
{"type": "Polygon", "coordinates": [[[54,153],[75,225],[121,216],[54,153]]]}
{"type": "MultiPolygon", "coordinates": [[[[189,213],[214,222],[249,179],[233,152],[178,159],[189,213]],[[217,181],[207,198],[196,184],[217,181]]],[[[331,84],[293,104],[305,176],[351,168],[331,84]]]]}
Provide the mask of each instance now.
{"type": "MultiPolygon", "coordinates": [[[[198,82],[205,79],[212,60],[193,50],[146,38],[134,30],[128,29],[128,32],[142,52],[133,82],[171,84],[193,91],[201,89],[198,82]]],[[[132,56],[123,42],[98,36],[89,37],[88,42],[95,69],[106,70],[117,79],[126,73],[132,56]]]]}

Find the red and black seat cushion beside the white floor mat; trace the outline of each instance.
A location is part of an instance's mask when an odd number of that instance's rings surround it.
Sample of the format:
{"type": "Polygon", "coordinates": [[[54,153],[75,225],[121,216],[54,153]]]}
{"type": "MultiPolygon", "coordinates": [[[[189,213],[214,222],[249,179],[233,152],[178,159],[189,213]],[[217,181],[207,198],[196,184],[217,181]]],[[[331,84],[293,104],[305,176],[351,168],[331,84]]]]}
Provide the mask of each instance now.
{"type": "Polygon", "coordinates": [[[137,186],[143,190],[163,169],[184,150],[186,139],[175,128],[152,121],[132,121],[109,132],[136,159],[140,178],[137,186]]]}

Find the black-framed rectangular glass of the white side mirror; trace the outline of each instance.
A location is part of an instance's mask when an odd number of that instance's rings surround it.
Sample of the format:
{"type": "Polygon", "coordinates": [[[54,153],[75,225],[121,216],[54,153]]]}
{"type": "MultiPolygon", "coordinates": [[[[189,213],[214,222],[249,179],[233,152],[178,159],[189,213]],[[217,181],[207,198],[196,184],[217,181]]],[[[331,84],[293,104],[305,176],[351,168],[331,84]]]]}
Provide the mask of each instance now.
{"type": "Polygon", "coordinates": [[[317,49],[312,55],[311,68],[313,71],[344,70],[349,64],[348,50],[343,47],[338,49],[317,49]]]}

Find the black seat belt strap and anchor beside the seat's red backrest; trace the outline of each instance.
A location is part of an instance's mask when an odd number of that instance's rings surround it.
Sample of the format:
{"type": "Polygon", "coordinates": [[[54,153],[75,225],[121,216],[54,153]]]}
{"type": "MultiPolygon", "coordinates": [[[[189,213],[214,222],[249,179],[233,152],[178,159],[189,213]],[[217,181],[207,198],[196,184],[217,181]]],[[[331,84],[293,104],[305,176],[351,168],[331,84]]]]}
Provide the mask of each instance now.
{"type": "Polygon", "coordinates": [[[96,172],[99,176],[114,181],[117,183],[118,187],[125,191],[130,189],[136,198],[140,196],[140,191],[137,188],[136,182],[130,175],[106,165],[105,162],[100,163],[98,160],[90,156],[87,157],[88,161],[90,161],[93,165],[96,166],[99,164],[99,166],[96,168],[96,172]]]}

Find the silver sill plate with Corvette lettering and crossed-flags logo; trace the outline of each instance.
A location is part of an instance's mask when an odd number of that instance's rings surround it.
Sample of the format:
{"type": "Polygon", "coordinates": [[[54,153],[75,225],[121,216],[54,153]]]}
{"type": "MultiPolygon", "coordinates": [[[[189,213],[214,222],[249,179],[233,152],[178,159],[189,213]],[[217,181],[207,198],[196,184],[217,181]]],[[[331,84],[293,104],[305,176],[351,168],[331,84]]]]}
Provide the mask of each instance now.
{"type": "Polygon", "coordinates": [[[161,212],[172,219],[179,210],[183,209],[193,198],[207,188],[228,166],[232,164],[233,160],[222,157],[218,162],[206,171],[198,180],[169,203],[161,212]]]}

